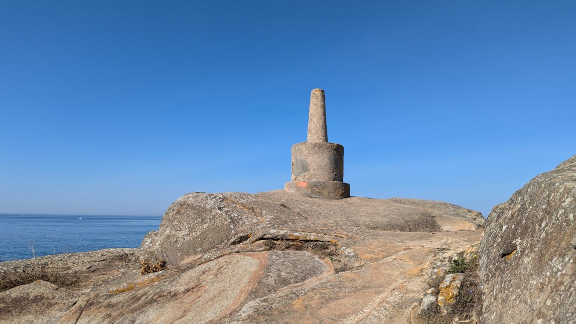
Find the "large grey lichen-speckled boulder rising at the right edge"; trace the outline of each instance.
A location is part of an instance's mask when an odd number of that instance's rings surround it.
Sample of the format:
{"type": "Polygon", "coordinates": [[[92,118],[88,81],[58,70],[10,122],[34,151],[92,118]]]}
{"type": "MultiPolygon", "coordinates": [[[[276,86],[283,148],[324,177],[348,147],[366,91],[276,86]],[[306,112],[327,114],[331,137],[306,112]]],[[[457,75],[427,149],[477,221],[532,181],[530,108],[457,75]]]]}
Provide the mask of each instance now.
{"type": "Polygon", "coordinates": [[[526,183],[488,217],[480,246],[482,323],[574,323],[576,156],[526,183]]]}

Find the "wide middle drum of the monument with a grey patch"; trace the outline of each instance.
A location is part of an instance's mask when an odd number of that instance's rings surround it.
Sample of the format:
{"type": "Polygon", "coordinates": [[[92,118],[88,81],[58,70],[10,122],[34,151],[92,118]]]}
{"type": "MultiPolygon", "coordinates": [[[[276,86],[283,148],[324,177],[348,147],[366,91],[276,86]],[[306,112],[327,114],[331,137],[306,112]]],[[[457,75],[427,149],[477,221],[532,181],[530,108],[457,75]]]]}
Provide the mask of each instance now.
{"type": "Polygon", "coordinates": [[[292,145],[292,181],[344,179],[344,146],[328,142],[292,145]]]}

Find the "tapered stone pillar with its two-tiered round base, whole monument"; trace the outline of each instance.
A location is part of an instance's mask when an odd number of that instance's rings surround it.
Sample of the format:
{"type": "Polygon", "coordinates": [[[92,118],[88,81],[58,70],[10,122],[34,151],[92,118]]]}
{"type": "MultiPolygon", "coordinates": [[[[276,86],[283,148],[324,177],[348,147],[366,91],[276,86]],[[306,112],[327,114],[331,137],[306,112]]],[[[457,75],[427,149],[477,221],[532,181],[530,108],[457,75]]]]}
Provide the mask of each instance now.
{"type": "Polygon", "coordinates": [[[310,93],[308,141],[292,145],[292,180],[284,191],[300,192],[313,198],[350,197],[344,180],[344,146],[328,142],[324,90],[310,93]]]}

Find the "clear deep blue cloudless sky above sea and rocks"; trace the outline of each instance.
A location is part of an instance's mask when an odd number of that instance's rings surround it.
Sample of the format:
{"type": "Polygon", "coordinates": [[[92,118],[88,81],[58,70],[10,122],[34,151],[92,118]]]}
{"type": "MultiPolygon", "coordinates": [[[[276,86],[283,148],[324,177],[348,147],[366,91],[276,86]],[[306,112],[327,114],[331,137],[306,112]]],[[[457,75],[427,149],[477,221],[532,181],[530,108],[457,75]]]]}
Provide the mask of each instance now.
{"type": "Polygon", "coordinates": [[[2,1],[0,213],[160,215],[290,180],[479,210],[576,154],[574,1],[2,1]]]}

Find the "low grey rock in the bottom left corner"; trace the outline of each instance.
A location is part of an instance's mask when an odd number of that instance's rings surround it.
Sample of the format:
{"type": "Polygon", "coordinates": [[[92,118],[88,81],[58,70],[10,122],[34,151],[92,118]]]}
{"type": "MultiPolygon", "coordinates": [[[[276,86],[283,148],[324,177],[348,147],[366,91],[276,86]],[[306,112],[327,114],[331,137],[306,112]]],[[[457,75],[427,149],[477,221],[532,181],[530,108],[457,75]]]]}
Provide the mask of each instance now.
{"type": "Polygon", "coordinates": [[[58,323],[77,302],[74,293],[46,281],[0,292],[0,323],[58,323]]]}

